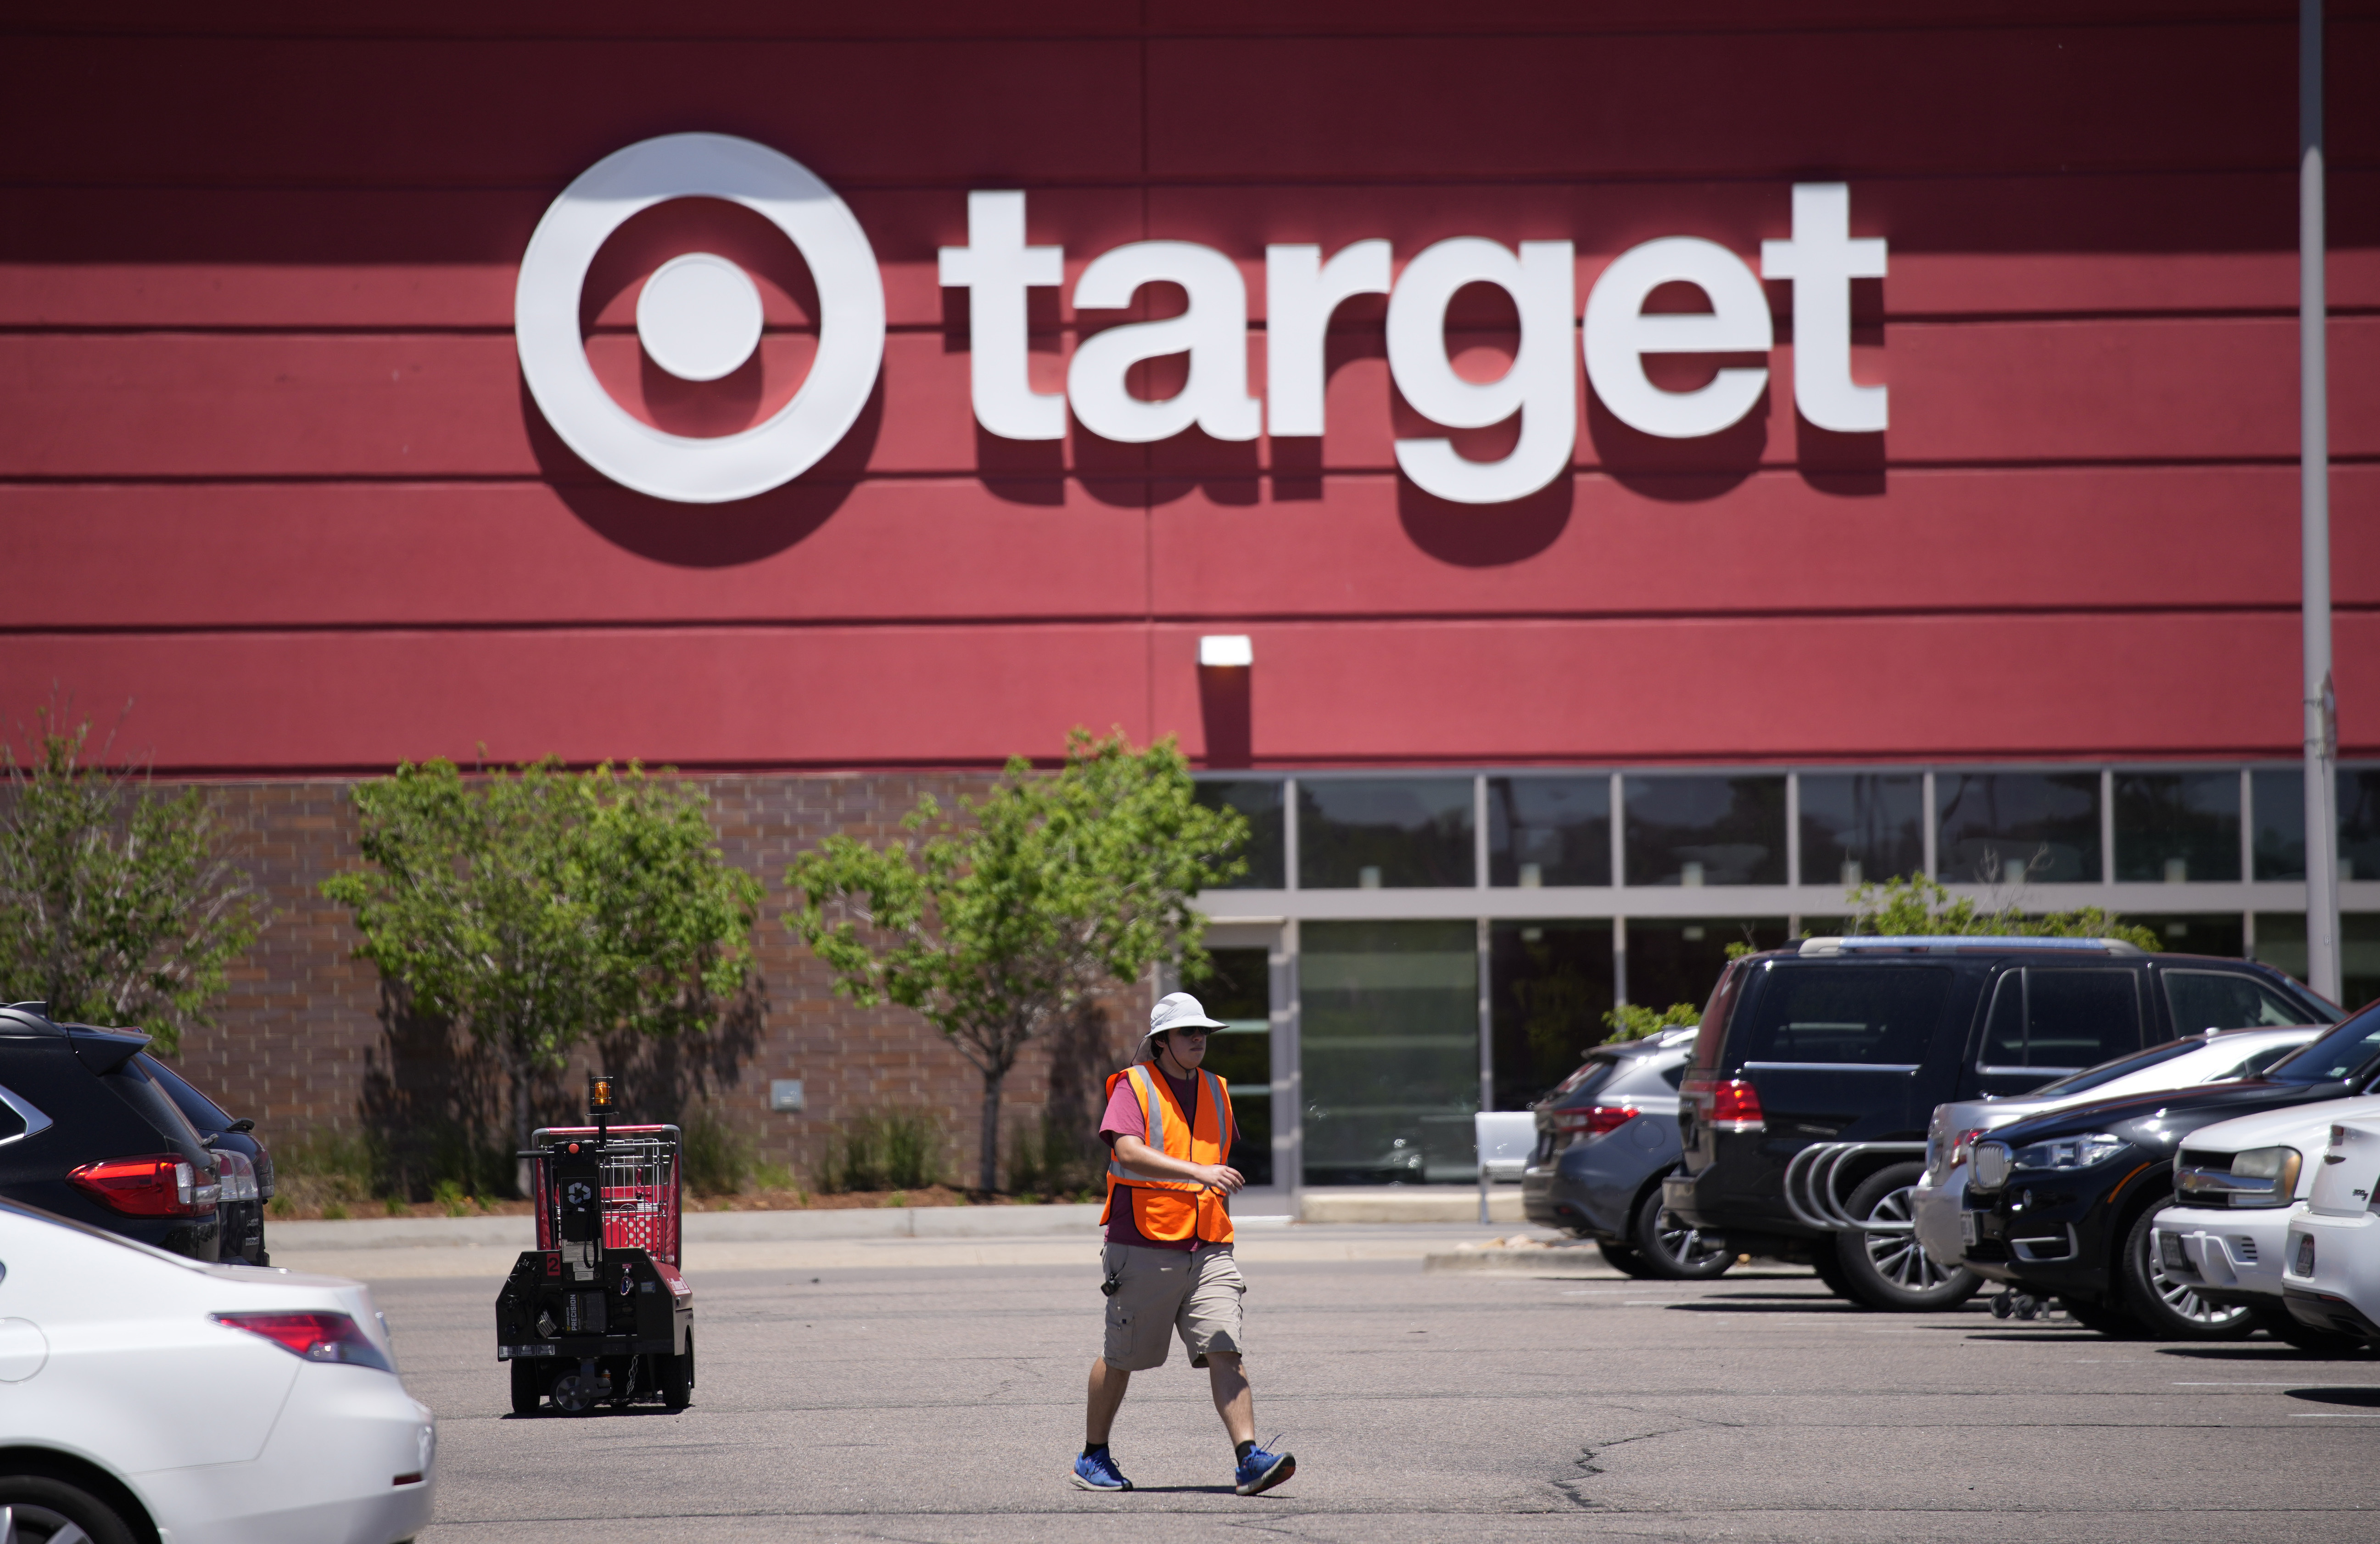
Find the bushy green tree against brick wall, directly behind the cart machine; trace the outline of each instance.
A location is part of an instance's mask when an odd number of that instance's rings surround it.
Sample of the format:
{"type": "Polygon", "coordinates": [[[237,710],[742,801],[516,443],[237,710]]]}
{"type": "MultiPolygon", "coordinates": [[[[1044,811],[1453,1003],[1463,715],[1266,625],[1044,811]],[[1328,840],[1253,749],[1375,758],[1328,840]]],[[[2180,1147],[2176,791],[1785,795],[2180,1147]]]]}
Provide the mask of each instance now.
{"type": "Polygon", "coordinates": [[[367,870],[324,879],[359,955],[533,1089],[593,1036],[700,1034],[752,967],[759,882],[719,855],[702,789],[545,760],[466,779],[402,765],[355,789],[367,870]]]}

